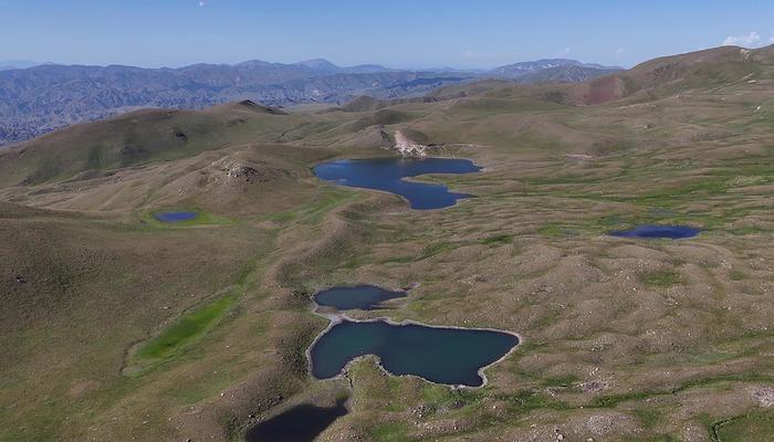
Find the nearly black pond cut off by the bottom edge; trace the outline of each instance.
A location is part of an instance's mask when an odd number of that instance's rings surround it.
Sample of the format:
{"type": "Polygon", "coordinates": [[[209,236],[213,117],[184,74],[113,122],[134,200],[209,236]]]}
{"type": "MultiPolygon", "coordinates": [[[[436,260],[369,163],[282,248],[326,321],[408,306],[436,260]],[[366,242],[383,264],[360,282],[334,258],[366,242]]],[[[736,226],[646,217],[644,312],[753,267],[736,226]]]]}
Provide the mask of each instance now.
{"type": "Polygon", "coordinates": [[[258,423],[244,435],[247,442],[311,442],[333,421],[347,413],[345,400],[335,407],[294,407],[258,423]]]}

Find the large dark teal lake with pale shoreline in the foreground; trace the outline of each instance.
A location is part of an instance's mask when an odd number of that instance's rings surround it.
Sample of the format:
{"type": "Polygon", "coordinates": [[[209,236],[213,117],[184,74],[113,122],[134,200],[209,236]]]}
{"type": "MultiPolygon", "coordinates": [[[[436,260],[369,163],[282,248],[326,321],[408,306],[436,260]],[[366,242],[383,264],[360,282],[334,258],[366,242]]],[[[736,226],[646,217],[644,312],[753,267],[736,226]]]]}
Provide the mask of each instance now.
{"type": "Polygon", "coordinates": [[[483,369],[517,344],[517,336],[504,332],[344,319],[312,345],[310,359],[317,379],[336,377],[353,359],[375,355],[393,375],[480,387],[483,369]]]}

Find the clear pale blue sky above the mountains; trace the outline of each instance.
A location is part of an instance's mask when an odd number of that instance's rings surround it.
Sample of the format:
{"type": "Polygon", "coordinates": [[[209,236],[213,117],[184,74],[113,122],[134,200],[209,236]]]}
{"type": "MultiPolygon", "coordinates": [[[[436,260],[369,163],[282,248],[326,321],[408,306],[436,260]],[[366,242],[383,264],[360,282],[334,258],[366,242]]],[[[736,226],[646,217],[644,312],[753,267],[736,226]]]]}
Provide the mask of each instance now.
{"type": "Polygon", "coordinates": [[[562,56],[631,66],[771,44],[773,19],[771,0],[0,0],[0,60],[492,67],[562,56]]]}

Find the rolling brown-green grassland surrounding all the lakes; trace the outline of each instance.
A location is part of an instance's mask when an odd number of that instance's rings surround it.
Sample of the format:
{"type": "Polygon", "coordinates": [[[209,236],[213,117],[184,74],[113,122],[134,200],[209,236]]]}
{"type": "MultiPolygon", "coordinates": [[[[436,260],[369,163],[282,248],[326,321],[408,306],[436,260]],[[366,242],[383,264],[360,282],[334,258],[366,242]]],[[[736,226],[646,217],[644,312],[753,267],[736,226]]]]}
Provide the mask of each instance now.
{"type": "Polygon", "coordinates": [[[318,441],[768,441],[773,137],[774,46],[723,46],[580,83],[140,109],[11,145],[0,440],[259,440],[300,406],[331,418],[318,441]],[[410,176],[461,194],[429,210],[315,176],[401,152],[481,170],[410,176]],[[644,224],[697,234],[610,234],[644,224]],[[362,284],[391,294],[351,324],[509,347],[480,385],[386,356],[317,379],[337,316],[315,295],[362,284]]]}

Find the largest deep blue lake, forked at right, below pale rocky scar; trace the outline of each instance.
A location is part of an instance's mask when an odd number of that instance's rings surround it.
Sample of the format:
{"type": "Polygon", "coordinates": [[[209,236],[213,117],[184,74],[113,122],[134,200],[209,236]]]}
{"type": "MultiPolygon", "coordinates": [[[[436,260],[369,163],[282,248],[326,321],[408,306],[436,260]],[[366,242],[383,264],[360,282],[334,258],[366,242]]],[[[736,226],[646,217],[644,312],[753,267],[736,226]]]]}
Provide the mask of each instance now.
{"type": "Polygon", "coordinates": [[[326,181],[363,189],[384,190],[406,198],[411,209],[429,210],[454,206],[470,197],[450,192],[446,186],[406,181],[404,178],[426,173],[472,173],[481,170],[472,161],[453,158],[377,158],[336,160],[314,168],[326,181]]]}

